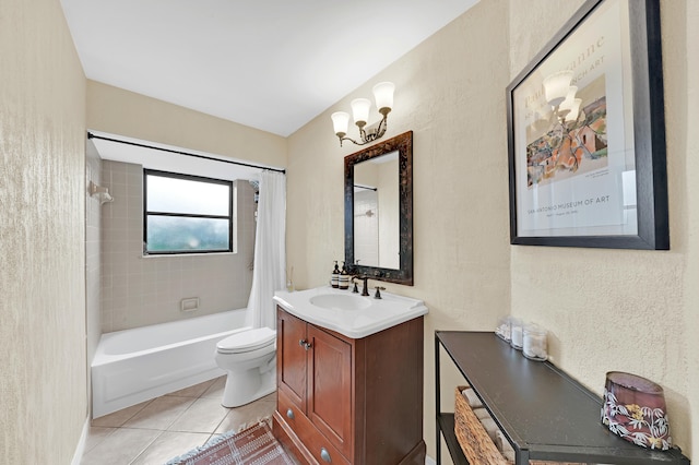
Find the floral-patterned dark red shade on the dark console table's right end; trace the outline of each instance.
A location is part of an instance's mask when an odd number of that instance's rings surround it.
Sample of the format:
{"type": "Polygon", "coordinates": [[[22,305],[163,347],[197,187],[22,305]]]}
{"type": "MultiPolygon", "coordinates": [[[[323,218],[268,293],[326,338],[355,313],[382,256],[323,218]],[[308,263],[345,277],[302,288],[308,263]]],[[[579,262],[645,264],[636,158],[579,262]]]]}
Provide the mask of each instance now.
{"type": "Polygon", "coordinates": [[[604,386],[602,422],[609,431],[648,449],[672,448],[663,389],[645,378],[609,371],[604,386]]]}

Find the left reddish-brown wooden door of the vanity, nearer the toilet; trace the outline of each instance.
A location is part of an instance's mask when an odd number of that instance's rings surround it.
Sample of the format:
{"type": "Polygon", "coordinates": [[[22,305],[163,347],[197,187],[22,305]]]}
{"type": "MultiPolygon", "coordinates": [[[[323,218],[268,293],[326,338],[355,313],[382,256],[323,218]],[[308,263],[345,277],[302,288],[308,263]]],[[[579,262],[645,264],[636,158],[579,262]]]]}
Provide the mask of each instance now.
{"type": "Polygon", "coordinates": [[[277,310],[277,386],[301,412],[306,412],[306,359],[310,349],[304,346],[306,342],[306,322],[281,309],[277,310]]]}

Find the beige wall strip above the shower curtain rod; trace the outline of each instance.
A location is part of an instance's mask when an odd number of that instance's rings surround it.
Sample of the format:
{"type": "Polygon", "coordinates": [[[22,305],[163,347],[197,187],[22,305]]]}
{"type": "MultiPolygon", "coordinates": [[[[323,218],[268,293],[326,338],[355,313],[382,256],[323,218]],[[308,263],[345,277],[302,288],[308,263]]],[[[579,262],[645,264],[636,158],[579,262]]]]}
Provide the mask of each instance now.
{"type": "Polygon", "coordinates": [[[280,135],[90,80],[87,129],[286,166],[286,140],[280,135]]]}

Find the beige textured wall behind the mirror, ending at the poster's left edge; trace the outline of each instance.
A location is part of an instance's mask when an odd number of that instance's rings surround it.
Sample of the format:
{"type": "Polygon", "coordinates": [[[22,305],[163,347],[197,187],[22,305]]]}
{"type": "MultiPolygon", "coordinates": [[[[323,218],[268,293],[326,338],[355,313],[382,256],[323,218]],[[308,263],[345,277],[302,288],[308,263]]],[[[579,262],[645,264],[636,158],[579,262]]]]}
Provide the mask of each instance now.
{"type": "MultiPolygon", "coordinates": [[[[344,257],[343,157],[359,150],[340,147],[330,114],[370,97],[377,82],[395,83],[384,139],[414,132],[415,286],[384,285],[430,311],[424,437],[431,456],[434,330],[490,330],[510,312],[507,21],[507,1],[479,2],[288,140],[287,265],[297,288],[308,288],[327,283],[332,261],[344,257]]],[[[455,380],[442,384],[452,408],[455,380]]]]}

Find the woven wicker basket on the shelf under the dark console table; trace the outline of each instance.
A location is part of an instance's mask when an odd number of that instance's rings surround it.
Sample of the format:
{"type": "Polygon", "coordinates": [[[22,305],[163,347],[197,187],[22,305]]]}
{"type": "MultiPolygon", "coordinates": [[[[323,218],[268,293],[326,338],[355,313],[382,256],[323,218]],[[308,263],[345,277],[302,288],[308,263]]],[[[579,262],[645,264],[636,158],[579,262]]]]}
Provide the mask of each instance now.
{"type": "MultiPolygon", "coordinates": [[[[457,386],[454,408],[454,433],[464,455],[471,464],[477,465],[513,465],[502,456],[485,428],[473,413],[469,402],[461,393],[466,386],[457,386]]],[[[581,465],[568,462],[530,461],[530,465],[581,465]]]]}

